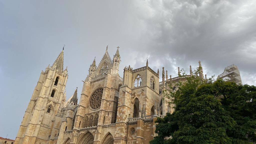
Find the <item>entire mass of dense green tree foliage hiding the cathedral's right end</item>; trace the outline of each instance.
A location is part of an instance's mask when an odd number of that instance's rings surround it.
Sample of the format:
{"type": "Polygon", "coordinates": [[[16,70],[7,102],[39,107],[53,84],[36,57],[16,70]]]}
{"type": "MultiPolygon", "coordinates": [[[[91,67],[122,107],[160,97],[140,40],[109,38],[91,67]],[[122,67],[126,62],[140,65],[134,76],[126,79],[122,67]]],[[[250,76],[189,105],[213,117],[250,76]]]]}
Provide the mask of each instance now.
{"type": "MultiPolygon", "coordinates": [[[[198,70],[197,70],[198,71],[198,70]]],[[[197,75],[195,71],[195,75],[197,75]]],[[[174,112],[156,120],[151,144],[244,144],[256,141],[256,87],[190,77],[165,93],[174,112]]]]}

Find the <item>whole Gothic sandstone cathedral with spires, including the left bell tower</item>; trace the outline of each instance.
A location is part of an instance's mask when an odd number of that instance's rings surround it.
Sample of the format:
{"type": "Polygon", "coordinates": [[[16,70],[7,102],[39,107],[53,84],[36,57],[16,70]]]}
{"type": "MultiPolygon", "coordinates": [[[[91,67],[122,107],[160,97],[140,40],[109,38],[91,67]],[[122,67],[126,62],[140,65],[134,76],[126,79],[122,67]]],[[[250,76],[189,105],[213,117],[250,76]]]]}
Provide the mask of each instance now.
{"type": "MultiPolygon", "coordinates": [[[[147,144],[155,134],[155,120],[173,112],[163,91],[176,91],[162,68],[125,67],[121,73],[119,47],[111,59],[108,47],[98,66],[95,58],[83,80],[80,101],[77,88],[66,100],[68,70],[63,68],[64,47],[52,66],[42,71],[19,127],[15,144],[147,144]],[[64,70],[63,70],[64,69],[64,70]]],[[[201,63],[199,61],[199,66],[201,63]]],[[[203,79],[203,72],[200,71],[203,79]]]]}

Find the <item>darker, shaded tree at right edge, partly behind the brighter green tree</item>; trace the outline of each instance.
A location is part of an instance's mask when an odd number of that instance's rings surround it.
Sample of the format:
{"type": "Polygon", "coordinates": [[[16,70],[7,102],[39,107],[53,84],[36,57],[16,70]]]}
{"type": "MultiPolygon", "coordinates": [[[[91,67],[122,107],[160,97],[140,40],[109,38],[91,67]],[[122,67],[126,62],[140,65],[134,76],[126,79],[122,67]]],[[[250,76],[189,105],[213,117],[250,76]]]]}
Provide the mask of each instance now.
{"type": "Polygon", "coordinates": [[[228,127],[226,134],[232,143],[249,143],[256,141],[256,87],[237,85],[233,82],[217,80],[212,84],[198,87],[196,95],[214,95],[223,109],[236,121],[236,125],[228,127]]]}

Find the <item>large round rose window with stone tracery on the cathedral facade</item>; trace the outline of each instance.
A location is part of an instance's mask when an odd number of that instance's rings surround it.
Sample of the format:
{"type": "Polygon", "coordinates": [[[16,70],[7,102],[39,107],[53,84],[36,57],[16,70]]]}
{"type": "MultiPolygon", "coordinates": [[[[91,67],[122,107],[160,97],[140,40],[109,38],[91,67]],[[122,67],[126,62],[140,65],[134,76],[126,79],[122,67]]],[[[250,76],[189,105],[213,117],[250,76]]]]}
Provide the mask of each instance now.
{"type": "Polygon", "coordinates": [[[103,94],[103,88],[99,88],[93,92],[93,94],[90,97],[90,107],[92,109],[98,109],[101,105],[101,98],[103,94]]]}

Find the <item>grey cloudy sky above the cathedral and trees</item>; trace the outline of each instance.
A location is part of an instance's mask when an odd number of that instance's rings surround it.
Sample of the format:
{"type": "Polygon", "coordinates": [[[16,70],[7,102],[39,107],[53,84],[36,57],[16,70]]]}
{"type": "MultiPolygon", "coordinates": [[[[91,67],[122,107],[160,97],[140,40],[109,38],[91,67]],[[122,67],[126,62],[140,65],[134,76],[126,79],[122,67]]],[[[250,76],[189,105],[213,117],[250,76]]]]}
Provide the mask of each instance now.
{"type": "Polygon", "coordinates": [[[256,85],[255,11],[254,0],[0,0],[0,137],[15,139],[41,70],[63,44],[67,97],[81,92],[107,45],[111,58],[120,47],[120,73],[148,59],[175,77],[200,60],[208,76],[235,64],[243,84],[256,85]]]}

